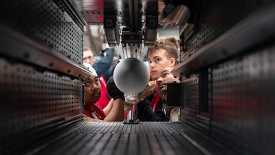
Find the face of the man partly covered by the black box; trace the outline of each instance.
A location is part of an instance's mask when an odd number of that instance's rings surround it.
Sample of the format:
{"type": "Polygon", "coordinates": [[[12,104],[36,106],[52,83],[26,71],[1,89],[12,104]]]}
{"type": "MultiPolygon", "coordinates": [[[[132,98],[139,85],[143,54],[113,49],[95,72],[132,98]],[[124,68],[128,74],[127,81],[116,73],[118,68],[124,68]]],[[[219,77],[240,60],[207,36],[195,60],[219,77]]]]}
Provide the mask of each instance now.
{"type": "Polygon", "coordinates": [[[179,83],[179,78],[175,78],[173,74],[170,73],[170,71],[173,68],[164,68],[159,75],[157,76],[157,85],[158,85],[158,91],[161,96],[164,95],[165,99],[167,99],[167,83],[177,82],[179,83]]]}

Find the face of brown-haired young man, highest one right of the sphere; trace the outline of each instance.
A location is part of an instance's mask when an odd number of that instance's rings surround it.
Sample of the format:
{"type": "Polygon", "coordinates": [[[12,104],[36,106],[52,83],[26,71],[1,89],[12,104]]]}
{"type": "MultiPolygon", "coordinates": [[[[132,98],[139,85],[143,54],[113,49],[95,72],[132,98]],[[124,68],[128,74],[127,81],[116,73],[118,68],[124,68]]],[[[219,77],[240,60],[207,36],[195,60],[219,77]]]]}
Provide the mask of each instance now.
{"type": "Polygon", "coordinates": [[[172,68],[175,66],[174,59],[168,59],[166,56],[166,50],[164,49],[157,49],[148,54],[148,63],[151,80],[157,79],[157,75],[164,68],[172,68]]]}

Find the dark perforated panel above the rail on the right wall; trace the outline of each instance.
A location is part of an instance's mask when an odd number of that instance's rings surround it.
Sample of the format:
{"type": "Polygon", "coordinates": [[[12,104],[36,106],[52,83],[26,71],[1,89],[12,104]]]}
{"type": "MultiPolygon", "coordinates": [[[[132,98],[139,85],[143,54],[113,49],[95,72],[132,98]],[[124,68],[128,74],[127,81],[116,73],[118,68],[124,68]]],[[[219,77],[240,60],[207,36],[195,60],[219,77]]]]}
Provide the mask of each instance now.
{"type": "Polygon", "coordinates": [[[249,13],[263,5],[263,1],[199,1],[199,15],[195,29],[184,34],[181,61],[199,48],[226,32],[249,13]]]}

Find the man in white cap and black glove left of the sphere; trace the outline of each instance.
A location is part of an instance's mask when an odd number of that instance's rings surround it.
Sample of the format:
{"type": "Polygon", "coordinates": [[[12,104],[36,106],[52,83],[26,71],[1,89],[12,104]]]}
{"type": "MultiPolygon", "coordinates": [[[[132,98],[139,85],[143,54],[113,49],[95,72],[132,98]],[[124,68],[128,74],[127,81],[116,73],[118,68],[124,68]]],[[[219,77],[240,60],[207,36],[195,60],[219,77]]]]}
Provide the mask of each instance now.
{"type": "Polygon", "coordinates": [[[107,90],[113,99],[111,99],[107,107],[102,109],[95,104],[101,96],[99,77],[89,63],[84,64],[93,73],[83,83],[85,87],[84,121],[123,121],[124,94],[115,86],[113,77],[111,76],[107,82],[107,90]]]}

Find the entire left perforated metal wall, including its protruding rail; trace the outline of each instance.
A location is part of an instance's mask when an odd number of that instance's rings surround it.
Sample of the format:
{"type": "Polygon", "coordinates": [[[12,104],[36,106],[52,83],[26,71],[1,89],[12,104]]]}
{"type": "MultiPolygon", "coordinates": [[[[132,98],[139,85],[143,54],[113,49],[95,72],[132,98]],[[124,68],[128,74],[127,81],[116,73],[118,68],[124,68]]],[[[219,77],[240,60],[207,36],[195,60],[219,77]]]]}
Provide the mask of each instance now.
{"type": "Polygon", "coordinates": [[[83,64],[84,22],[72,6],[1,1],[0,154],[34,148],[83,121],[82,79],[61,72],[83,64]]]}

